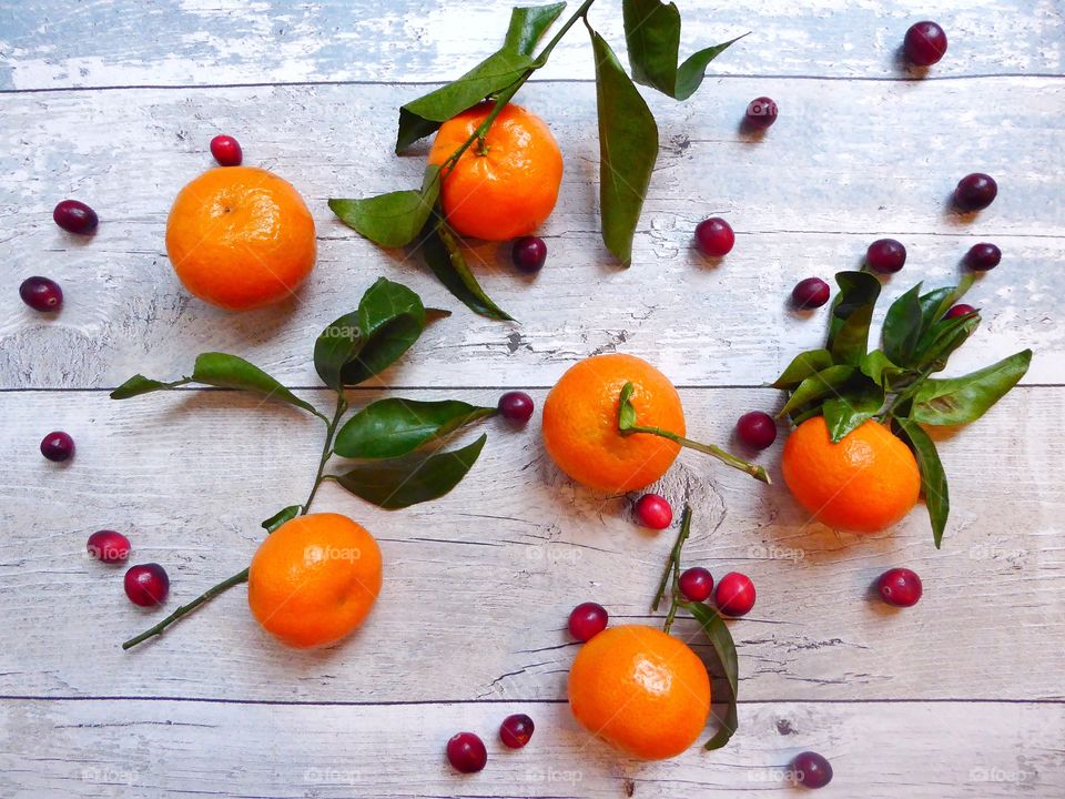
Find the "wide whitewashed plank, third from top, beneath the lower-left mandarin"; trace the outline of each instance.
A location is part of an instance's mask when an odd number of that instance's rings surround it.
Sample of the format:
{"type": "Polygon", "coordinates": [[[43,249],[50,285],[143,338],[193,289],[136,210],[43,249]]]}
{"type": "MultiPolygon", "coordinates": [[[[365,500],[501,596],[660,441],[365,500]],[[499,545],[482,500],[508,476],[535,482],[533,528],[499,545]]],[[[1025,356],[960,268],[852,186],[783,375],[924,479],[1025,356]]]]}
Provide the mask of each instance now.
{"type": "MultiPolygon", "coordinates": [[[[325,394],[305,396],[321,405],[325,394]]],[[[399,395],[487,404],[496,392],[399,395]]],[[[689,434],[728,443],[737,416],[768,395],[682,397],[689,434]]],[[[263,537],[258,522],[304,499],[322,424],[257,404],[232,392],[122,403],[99,392],[0,393],[0,629],[18,643],[0,648],[0,695],[558,699],[575,605],[594,599],[616,620],[647,620],[676,527],[641,530],[628,499],[561,476],[542,452],[538,417],[520,431],[496,419],[485,425],[480,461],[440,500],[385,512],[324,486],[315,509],[365,524],[386,564],[377,607],[345,644],[281,648],[255,626],[241,587],[162,639],[121,651],[163,614],[125,600],[123,569],[84,555],[90,533],[123,530],[134,562],[163,564],[173,608],[244,568],[263,537]],[[53,427],[78,442],[67,466],[36,452],[53,427]]],[[[809,525],[782,485],[779,444],[760,458],[772,488],[686,453],[659,489],[678,519],[686,498],[696,509],[688,565],[718,578],[741,570],[759,590],[751,616],[731,623],[741,696],[1065,699],[1061,648],[1049,645],[1065,634],[1063,441],[1065,390],[1038,388],[1015,391],[945,438],[953,515],[940,552],[921,506],[871,539],[809,525]],[[921,574],[917,608],[870,600],[870,584],[892,566],[921,574]]]]}

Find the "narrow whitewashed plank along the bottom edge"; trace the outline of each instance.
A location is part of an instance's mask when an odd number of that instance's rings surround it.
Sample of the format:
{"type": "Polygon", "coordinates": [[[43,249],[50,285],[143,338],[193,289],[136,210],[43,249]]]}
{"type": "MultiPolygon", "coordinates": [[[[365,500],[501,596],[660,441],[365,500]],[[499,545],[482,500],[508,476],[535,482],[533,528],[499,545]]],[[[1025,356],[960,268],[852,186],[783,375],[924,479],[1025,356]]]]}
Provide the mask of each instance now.
{"type": "MultiPolygon", "coordinates": [[[[730,746],[673,760],[615,755],[565,704],[264,706],[184,701],[6,701],[0,754],[12,799],[65,797],[793,797],[789,763],[830,758],[826,797],[1059,797],[1065,715],[1033,704],[744,705],[730,746]],[[496,738],[510,712],[536,732],[521,750],[496,738]],[[876,734],[870,735],[871,727],[876,734]],[[478,732],[488,766],[444,760],[478,732]],[[41,742],[48,746],[42,747],[41,742]]],[[[820,795],[819,795],[820,796],[820,795]]]]}

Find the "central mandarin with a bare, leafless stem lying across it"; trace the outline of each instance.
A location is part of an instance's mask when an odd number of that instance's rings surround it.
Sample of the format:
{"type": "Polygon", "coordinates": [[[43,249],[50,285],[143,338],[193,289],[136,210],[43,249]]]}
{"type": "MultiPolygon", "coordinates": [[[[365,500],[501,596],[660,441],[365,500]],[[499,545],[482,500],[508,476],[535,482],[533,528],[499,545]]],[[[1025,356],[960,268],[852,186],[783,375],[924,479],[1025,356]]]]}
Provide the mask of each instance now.
{"type": "Polygon", "coordinates": [[[544,446],[578,483],[623,493],[650,485],[677,459],[680,445],[618,431],[618,395],[631,382],[637,422],[684,435],[680,396],[666,375],[635,355],[596,355],[575,364],[544,402],[544,446]]]}

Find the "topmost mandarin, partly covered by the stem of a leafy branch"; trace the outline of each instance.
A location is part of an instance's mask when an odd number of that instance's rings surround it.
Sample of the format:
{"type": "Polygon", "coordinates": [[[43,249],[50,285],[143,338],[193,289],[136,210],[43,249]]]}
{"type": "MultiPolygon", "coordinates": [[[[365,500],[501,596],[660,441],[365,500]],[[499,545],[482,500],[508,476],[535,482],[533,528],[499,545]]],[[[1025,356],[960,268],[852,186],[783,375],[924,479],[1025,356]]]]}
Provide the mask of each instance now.
{"type": "MultiPolygon", "coordinates": [[[[436,134],[429,163],[443,164],[491,112],[485,102],[449,119],[436,134]]],[[[444,215],[463,235],[507,241],[550,215],[562,182],[562,153],[547,124],[508,103],[488,129],[487,152],[474,142],[440,186],[444,215]]]]}

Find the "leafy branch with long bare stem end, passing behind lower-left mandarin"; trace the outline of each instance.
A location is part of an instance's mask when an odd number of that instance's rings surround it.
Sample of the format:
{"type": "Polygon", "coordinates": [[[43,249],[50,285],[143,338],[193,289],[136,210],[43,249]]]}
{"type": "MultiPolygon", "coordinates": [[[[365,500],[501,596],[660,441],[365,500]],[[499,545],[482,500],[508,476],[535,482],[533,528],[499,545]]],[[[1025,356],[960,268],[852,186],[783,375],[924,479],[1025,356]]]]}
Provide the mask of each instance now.
{"type": "MultiPolygon", "coordinates": [[[[422,299],[398,283],[379,279],[363,295],[358,307],[328,325],[314,344],[314,367],[322,382],[336,395],[332,416],[301,400],[266,372],[236,355],[204,353],[192,374],[172,382],[134,375],[111,393],[112,400],[171,391],[190,383],[250,392],[265,400],[293,405],[326,425],[322,454],[307,498],[290,505],[263,522],[272,533],[285,522],[310,512],[318,488],[333,481],[351,494],[379,507],[396,509],[436,499],[466,476],[487,438],[450,452],[419,452],[445,439],[466,425],[493,416],[494,407],[469,405],[457,400],[423,402],[388,397],[372,402],[347,417],[345,390],[376,376],[402,356],[442,312],[427,310],[422,299]],[[356,464],[342,474],[327,473],[334,456],[356,464]]],[[[446,312],[444,312],[446,315],[446,312]]],[[[166,627],[235,585],[247,581],[244,569],[209,588],[192,601],[122,645],[130,649],[162,634],[166,627]]]]}

